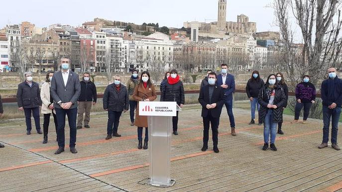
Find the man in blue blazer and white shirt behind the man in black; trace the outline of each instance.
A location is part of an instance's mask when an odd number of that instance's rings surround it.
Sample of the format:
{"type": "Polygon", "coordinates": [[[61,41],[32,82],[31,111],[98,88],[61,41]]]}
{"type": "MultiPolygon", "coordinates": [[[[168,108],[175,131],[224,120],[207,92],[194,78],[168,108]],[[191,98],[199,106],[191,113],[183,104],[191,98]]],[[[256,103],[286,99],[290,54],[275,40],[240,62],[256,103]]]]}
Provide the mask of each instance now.
{"type": "MultiPolygon", "coordinates": [[[[217,76],[217,84],[224,89],[225,92],[225,106],[227,109],[231,135],[236,136],[235,133],[235,121],[233,115],[233,96],[232,93],[235,91],[235,80],[234,76],[228,74],[228,65],[221,64],[221,74],[217,76]]],[[[222,109],[222,108],[221,108],[222,109]]]]}

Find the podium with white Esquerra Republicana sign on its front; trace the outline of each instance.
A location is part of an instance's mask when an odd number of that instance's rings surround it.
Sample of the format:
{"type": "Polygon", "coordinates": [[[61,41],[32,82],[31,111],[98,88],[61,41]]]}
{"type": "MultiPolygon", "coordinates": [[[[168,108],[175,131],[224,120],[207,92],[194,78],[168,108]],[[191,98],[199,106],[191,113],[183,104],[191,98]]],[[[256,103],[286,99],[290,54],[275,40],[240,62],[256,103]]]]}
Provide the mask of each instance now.
{"type": "Polygon", "coordinates": [[[170,187],[172,117],[181,108],[176,102],[139,101],[139,115],[148,116],[149,175],[148,184],[170,187]]]}

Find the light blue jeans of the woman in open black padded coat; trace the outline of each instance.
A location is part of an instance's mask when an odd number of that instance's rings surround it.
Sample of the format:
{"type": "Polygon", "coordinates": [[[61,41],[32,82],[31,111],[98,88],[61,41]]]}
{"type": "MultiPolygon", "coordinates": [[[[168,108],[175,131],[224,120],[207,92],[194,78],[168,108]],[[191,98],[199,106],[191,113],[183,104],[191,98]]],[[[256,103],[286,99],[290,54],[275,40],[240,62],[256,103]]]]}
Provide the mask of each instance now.
{"type": "Polygon", "coordinates": [[[275,142],[276,128],[278,123],[273,122],[273,110],[269,109],[264,121],[264,142],[268,143],[271,135],[271,143],[275,142]]]}

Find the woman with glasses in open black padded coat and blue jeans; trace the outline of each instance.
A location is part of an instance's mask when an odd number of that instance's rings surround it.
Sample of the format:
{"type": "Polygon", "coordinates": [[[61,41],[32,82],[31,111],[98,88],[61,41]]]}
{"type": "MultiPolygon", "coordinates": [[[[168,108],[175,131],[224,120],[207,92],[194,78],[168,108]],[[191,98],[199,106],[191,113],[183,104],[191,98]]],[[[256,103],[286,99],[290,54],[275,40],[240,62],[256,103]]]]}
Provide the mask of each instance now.
{"type": "Polygon", "coordinates": [[[262,150],[268,149],[270,137],[270,149],[276,151],[275,137],[277,124],[283,122],[283,106],[287,99],[283,87],[276,81],[276,75],[270,74],[262,86],[258,95],[260,103],[259,122],[264,124],[264,146],[262,150]]]}

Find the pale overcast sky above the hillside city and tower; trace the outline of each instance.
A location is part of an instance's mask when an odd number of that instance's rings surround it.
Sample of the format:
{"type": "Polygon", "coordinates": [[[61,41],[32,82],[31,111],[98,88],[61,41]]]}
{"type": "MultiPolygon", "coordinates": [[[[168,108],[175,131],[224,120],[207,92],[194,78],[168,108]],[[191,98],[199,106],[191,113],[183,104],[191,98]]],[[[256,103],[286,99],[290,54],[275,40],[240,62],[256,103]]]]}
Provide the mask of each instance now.
{"type": "MultiPolygon", "coordinates": [[[[227,21],[245,14],[257,23],[257,31],[278,31],[274,25],[273,0],[227,0],[227,21]]],[[[82,26],[85,21],[105,18],[135,24],[183,26],[184,21],[217,21],[218,0],[5,0],[1,2],[0,28],[21,21],[36,27],[51,24],[82,26]]]]}

